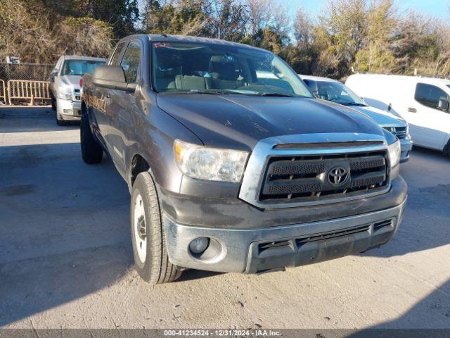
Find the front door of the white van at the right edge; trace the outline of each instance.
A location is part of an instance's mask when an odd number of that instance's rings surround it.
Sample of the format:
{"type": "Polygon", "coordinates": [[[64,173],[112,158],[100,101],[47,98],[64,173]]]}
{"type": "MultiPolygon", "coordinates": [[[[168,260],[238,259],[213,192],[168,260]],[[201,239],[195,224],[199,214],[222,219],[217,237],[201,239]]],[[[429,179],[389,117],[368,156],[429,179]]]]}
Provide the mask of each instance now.
{"type": "Polygon", "coordinates": [[[411,137],[415,144],[442,150],[450,132],[449,94],[434,84],[416,84],[414,101],[407,108],[411,137]],[[446,102],[439,107],[439,100],[446,102]]]}

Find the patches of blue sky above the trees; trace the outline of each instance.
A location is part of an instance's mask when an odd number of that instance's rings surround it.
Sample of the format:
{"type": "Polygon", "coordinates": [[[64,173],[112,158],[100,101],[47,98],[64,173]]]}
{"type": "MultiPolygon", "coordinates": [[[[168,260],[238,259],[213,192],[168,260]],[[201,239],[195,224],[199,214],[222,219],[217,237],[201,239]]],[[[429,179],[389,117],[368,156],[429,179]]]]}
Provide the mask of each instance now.
{"type": "MultiPolygon", "coordinates": [[[[302,6],[309,13],[316,16],[327,0],[278,0],[283,4],[289,4],[289,8],[302,6]]],[[[395,1],[401,11],[411,8],[418,13],[432,15],[439,18],[450,18],[449,0],[397,0],[395,1]]],[[[293,11],[295,12],[295,11],[293,11]]]]}

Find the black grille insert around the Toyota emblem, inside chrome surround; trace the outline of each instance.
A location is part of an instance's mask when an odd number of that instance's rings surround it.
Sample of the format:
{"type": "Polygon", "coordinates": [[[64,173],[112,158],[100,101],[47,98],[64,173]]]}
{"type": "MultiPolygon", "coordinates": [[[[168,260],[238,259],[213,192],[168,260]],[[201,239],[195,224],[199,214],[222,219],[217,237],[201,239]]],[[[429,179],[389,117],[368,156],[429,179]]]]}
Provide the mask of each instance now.
{"type": "Polygon", "coordinates": [[[389,184],[387,152],[315,156],[272,156],[266,164],[259,201],[264,204],[314,202],[380,192],[389,184]],[[344,168],[349,178],[335,185],[328,180],[333,168],[344,168]]]}

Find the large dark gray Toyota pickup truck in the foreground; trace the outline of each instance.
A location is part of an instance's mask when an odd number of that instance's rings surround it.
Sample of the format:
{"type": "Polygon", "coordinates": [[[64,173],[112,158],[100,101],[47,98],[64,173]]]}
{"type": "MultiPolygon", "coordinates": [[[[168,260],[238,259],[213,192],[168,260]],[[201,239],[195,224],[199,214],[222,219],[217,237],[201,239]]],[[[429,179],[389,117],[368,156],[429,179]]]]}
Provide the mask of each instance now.
{"type": "Polygon", "coordinates": [[[133,35],[84,75],[81,148],[131,192],[136,270],[263,273],[360,253],[401,223],[400,144],[314,98],[278,56],[198,37],[133,35]]]}

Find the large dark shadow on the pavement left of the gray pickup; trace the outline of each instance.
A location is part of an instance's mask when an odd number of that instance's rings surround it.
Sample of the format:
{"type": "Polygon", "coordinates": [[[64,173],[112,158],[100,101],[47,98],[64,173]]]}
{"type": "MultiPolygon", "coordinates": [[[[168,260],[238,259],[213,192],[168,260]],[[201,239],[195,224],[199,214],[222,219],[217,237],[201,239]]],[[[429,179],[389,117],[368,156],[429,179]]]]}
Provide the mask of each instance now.
{"type": "Polygon", "coordinates": [[[79,299],[132,265],[129,192],[79,144],[0,146],[0,326],[79,299]]]}

